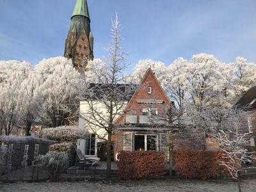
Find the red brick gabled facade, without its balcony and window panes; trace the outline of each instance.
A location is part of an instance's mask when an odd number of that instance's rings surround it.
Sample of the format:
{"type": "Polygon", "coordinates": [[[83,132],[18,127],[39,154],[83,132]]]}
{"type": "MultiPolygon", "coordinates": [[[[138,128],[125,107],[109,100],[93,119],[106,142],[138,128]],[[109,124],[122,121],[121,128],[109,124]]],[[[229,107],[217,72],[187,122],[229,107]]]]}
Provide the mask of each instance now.
{"type": "MultiPolygon", "coordinates": [[[[155,138],[156,150],[166,152],[168,154],[168,124],[164,121],[161,125],[152,124],[151,121],[148,124],[127,124],[125,118],[128,116],[136,116],[141,118],[143,116],[144,109],[154,108],[157,116],[164,116],[166,110],[170,108],[170,100],[166,93],[164,93],[161,84],[157,81],[154,72],[151,68],[148,68],[143,79],[141,79],[138,90],[132,95],[129,100],[125,113],[116,121],[116,124],[120,125],[120,129],[113,134],[113,141],[115,141],[114,156],[121,150],[136,150],[136,136],[143,136],[145,138],[145,146],[142,150],[150,150],[147,147],[148,136],[155,138]],[[148,89],[150,87],[150,90],[148,89]]],[[[144,116],[147,116],[144,114],[144,116]]],[[[137,149],[138,150],[138,149],[137,149]]]]}

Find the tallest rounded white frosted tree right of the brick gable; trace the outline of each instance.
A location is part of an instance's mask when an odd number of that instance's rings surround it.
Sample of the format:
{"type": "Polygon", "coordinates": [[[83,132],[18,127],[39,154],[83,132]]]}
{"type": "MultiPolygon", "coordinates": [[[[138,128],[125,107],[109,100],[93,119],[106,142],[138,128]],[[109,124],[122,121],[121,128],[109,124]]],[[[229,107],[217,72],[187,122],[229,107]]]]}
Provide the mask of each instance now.
{"type": "Polygon", "coordinates": [[[193,55],[185,68],[186,90],[196,111],[210,105],[223,88],[220,61],[210,54],[193,55]]]}

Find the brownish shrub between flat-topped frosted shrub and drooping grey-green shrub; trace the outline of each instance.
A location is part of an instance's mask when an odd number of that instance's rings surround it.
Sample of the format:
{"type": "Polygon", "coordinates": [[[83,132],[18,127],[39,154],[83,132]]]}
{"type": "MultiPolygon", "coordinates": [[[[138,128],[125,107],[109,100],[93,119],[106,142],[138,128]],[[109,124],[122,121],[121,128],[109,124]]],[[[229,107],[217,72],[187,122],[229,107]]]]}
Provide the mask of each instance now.
{"type": "Polygon", "coordinates": [[[57,143],[49,146],[49,151],[65,152],[68,155],[68,165],[74,164],[76,159],[76,147],[72,143],[57,143]]]}

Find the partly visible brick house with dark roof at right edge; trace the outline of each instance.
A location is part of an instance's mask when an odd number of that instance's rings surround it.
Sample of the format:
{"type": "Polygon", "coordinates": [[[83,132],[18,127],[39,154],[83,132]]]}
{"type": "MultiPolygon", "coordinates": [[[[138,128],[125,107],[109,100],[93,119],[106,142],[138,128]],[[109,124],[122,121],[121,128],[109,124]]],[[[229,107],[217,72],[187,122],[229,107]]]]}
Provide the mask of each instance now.
{"type": "Polygon", "coordinates": [[[246,112],[244,131],[249,132],[250,146],[255,150],[256,143],[256,86],[244,93],[243,97],[235,104],[237,109],[246,112]]]}

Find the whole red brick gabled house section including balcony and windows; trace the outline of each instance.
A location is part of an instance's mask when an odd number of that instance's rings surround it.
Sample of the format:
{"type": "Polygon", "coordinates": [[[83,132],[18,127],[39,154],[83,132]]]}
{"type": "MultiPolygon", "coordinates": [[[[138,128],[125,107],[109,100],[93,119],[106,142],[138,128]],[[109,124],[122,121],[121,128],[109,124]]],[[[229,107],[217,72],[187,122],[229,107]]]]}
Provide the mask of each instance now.
{"type": "Polygon", "coordinates": [[[161,150],[167,155],[166,111],[170,107],[175,111],[154,72],[148,68],[124,113],[116,121],[114,156],[121,150],[161,150]]]}

